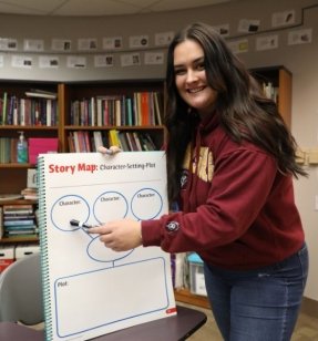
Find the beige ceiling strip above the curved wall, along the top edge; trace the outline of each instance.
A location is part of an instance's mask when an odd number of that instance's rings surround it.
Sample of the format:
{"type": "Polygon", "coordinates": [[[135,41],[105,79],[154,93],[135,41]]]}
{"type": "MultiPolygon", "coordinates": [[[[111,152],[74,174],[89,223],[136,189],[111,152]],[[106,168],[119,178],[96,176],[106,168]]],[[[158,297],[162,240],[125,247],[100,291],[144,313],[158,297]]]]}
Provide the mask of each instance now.
{"type": "Polygon", "coordinates": [[[236,0],[0,0],[0,13],[123,16],[191,9],[236,0]]]}

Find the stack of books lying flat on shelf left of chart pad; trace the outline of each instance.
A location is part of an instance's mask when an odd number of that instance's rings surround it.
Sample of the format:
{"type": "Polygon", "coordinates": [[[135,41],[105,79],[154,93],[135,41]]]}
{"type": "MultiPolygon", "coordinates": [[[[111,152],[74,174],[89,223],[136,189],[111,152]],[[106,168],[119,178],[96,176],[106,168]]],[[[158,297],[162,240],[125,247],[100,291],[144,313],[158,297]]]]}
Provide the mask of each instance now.
{"type": "Polygon", "coordinates": [[[1,207],[0,237],[37,236],[38,225],[33,205],[12,204],[1,207]]]}

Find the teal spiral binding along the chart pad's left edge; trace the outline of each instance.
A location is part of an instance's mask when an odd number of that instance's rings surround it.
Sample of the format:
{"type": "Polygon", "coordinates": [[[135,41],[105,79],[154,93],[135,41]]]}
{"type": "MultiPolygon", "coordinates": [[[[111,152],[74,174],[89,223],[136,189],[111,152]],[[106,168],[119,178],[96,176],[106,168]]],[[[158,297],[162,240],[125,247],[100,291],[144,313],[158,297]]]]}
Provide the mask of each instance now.
{"type": "Polygon", "coordinates": [[[50,293],[50,272],[47,235],[47,204],[45,204],[45,177],[44,157],[38,158],[38,188],[39,188],[39,230],[41,248],[42,287],[45,319],[45,340],[52,340],[52,311],[50,293]]]}

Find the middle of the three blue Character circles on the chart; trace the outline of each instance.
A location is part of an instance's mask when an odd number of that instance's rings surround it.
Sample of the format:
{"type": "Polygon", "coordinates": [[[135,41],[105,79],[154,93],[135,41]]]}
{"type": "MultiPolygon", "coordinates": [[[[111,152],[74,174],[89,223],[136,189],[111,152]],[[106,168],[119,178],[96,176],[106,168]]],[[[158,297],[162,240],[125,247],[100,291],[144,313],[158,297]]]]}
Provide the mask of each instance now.
{"type": "Polygon", "coordinates": [[[129,203],[119,192],[104,192],[93,205],[93,215],[100,224],[124,218],[127,210],[129,203]]]}

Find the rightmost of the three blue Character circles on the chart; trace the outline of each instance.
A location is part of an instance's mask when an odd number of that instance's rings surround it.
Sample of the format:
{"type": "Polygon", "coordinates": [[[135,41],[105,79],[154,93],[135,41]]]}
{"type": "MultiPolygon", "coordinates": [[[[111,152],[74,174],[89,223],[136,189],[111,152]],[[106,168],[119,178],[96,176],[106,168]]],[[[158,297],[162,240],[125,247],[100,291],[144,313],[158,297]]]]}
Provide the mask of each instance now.
{"type": "Polygon", "coordinates": [[[132,213],[139,220],[154,219],[162,207],[162,196],[153,188],[143,188],[132,198],[132,213]]]}

